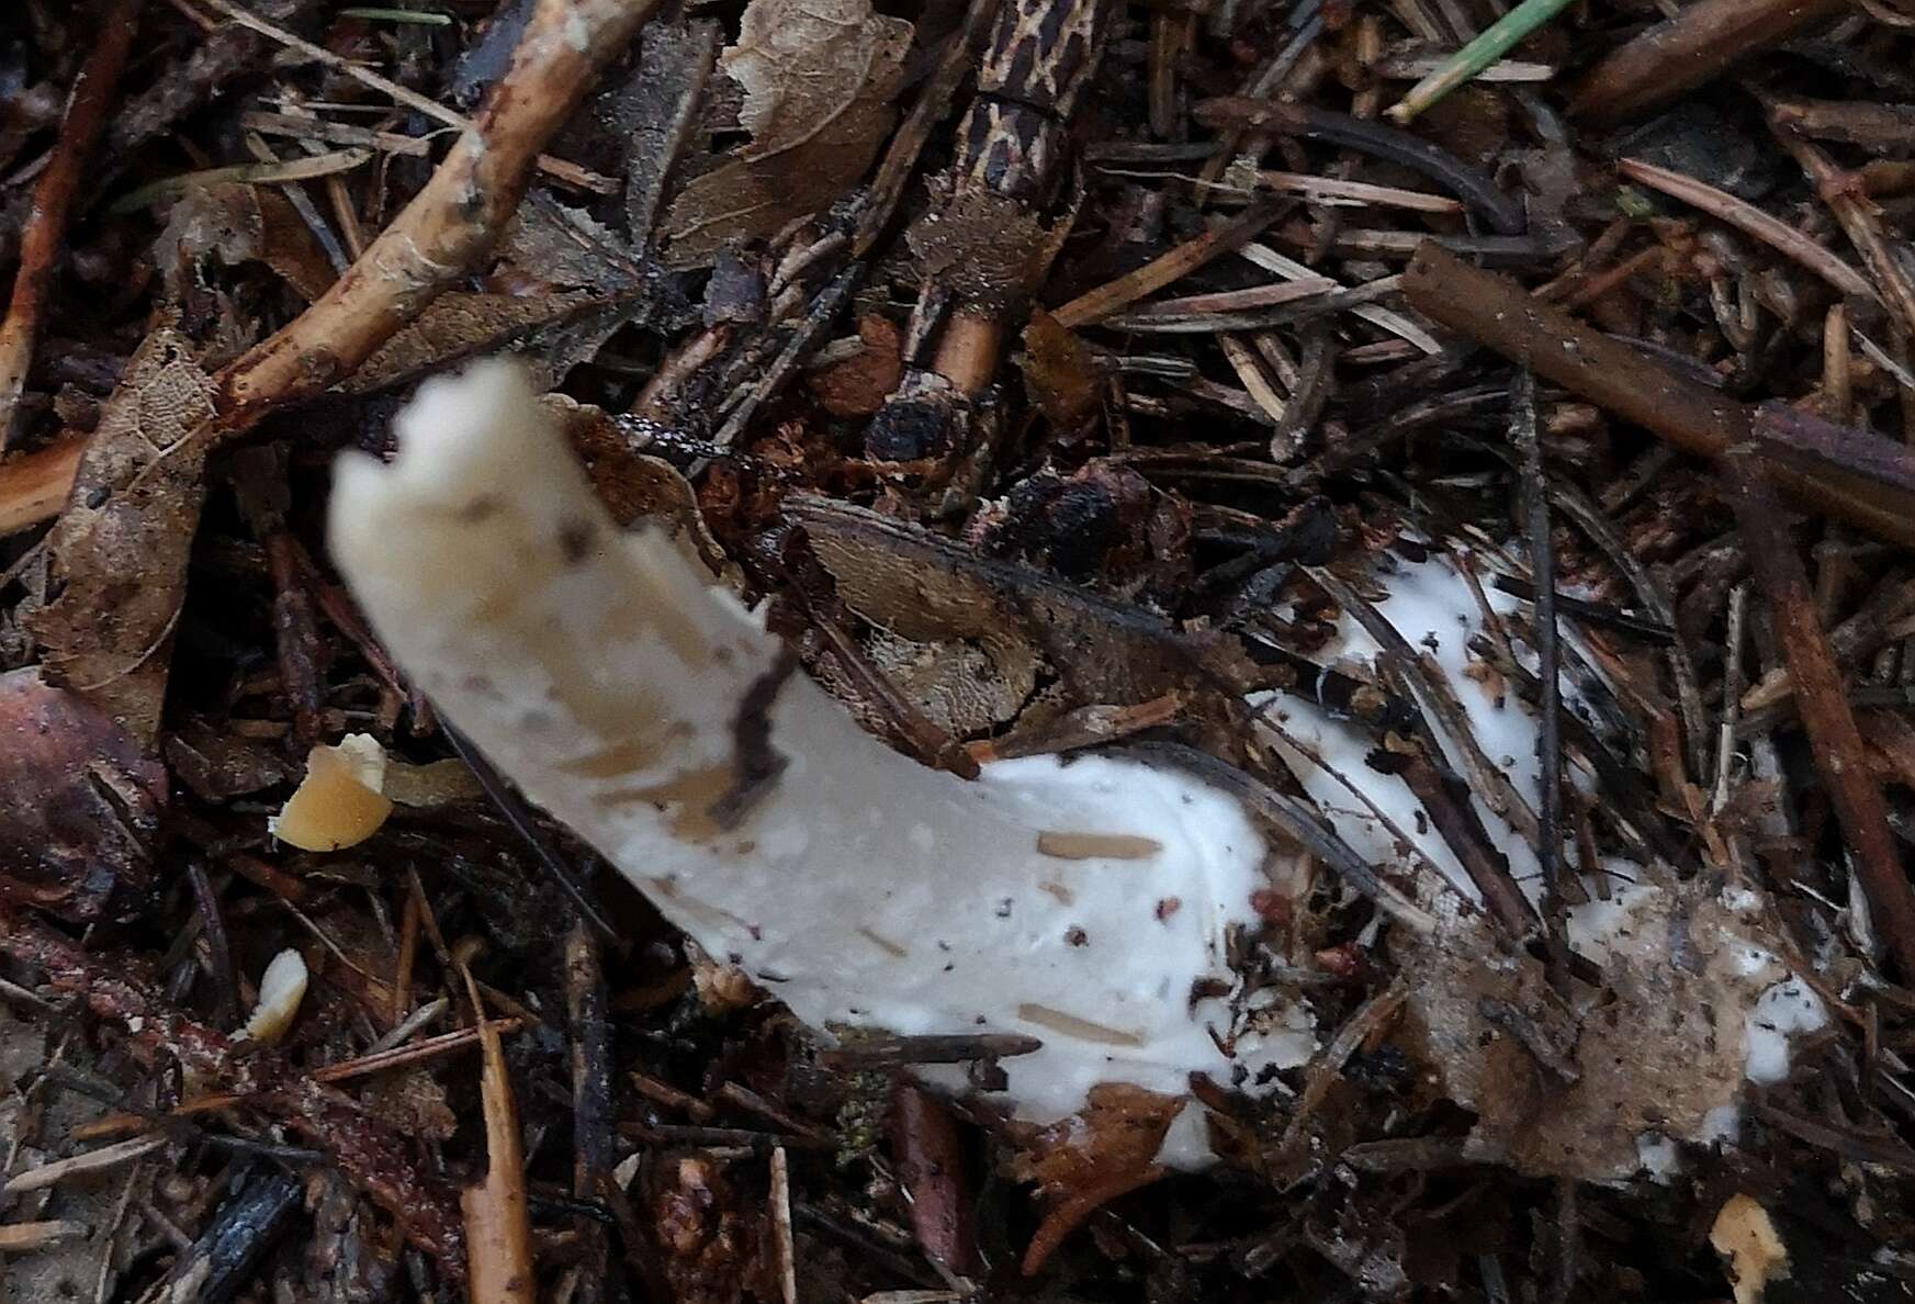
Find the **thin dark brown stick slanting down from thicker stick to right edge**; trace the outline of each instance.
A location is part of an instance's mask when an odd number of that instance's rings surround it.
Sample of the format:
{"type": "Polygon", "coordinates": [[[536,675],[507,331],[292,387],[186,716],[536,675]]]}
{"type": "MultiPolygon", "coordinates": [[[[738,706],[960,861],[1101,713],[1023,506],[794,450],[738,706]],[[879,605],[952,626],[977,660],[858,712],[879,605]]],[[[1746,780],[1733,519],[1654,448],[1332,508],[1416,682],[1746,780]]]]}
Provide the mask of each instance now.
{"type": "Polygon", "coordinates": [[[1802,701],[1802,728],[1835,818],[1854,856],[1856,875],[1904,982],[1915,978],[1915,888],[1902,869],[1888,806],[1869,770],[1867,749],[1835,653],[1815,617],[1815,596],[1802,559],[1783,528],[1783,511],[1752,448],[1727,458],[1731,504],[1743,532],[1748,569],[1769,607],[1775,641],[1802,701]]]}

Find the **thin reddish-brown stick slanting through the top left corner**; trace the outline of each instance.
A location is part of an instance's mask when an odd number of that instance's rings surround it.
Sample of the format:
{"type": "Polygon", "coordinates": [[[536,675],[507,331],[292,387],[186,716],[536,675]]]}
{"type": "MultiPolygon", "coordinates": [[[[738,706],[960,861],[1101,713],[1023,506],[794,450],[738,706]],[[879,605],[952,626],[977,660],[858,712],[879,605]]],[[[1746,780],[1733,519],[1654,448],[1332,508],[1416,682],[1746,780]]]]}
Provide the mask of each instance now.
{"type": "Polygon", "coordinates": [[[80,172],[105,126],[144,4],[146,0],[107,0],[100,15],[100,42],[80,65],[67,100],[67,117],[59,124],[59,140],[33,191],[33,209],[19,236],[13,299],[6,320],[0,322],[0,452],[13,442],[19,396],[27,389],[33,347],[40,335],[40,310],[46,306],[46,291],[54,285],[54,272],[59,270],[59,247],[67,237],[67,218],[73,216],[80,172]]]}

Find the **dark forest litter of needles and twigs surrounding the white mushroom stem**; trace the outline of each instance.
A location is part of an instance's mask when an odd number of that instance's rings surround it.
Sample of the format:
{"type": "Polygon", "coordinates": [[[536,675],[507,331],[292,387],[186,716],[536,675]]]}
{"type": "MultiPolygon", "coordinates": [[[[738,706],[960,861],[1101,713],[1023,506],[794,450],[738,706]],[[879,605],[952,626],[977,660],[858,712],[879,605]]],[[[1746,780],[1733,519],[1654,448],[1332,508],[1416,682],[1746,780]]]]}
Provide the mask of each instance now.
{"type": "Polygon", "coordinates": [[[0,1296],[1909,1293],[1900,0],[0,23],[0,1296]],[[500,352],[898,766],[1260,812],[1216,1166],[439,718],[327,471],[500,352]]]}

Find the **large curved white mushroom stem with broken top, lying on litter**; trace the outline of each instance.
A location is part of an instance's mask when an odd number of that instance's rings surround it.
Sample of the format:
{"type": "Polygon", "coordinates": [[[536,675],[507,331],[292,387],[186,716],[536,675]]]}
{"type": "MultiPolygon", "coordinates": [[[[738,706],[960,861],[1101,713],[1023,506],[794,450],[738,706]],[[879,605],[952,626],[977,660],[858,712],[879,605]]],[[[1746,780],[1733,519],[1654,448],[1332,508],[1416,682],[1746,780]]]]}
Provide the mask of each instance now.
{"type": "MultiPolygon", "coordinates": [[[[329,519],[385,645],[812,1028],[1036,1038],[1000,1099],[1040,1124],[1099,1084],[1183,1097],[1310,1057],[1308,1011],[1228,961],[1268,888],[1235,798],[1105,756],[977,781],[898,756],[665,534],[617,530],[513,364],[427,381],[396,431],[391,465],[341,458],[329,519]]],[[[1172,1126],[1160,1158],[1206,1162],[1201,1132],[1172,1126]]]]}

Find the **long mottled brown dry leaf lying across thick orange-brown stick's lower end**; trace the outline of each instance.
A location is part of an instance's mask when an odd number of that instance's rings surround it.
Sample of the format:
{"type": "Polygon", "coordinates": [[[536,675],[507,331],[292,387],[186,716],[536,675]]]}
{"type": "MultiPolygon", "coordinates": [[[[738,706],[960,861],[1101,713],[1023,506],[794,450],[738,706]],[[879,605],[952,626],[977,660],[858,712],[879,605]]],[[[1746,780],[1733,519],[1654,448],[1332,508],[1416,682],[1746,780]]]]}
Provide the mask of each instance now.
{"type": "Polygon", "coordinates": [[[186,559],[205,502],[214,416],[199,348],[157,326],[100,414],[67,509],[48,534],[56,588],[27,617],[48,678],[94,701],[144,747],[159,733],[186,559]]]}

